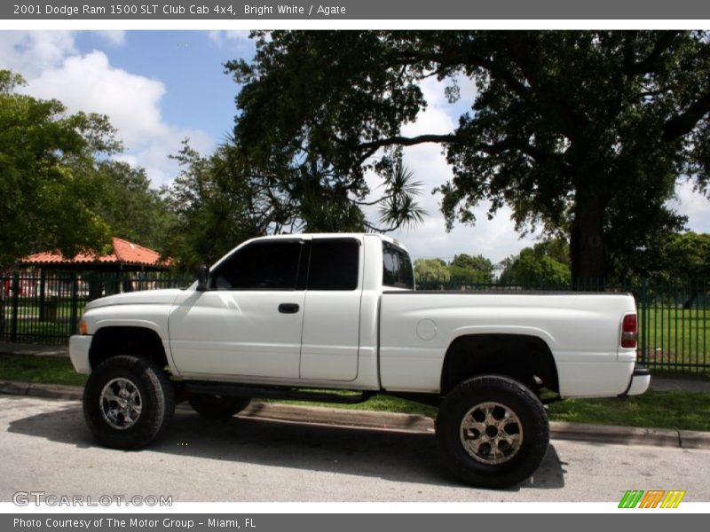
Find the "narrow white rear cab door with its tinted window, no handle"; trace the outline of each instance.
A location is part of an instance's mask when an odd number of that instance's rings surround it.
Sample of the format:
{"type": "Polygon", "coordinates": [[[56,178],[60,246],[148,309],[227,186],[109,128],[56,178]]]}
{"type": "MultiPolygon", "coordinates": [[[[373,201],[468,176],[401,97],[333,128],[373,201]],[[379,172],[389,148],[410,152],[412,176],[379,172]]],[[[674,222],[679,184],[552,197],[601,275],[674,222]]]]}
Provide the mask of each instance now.
{"type": "Polygon", "coordinates": [[[358,376],[362,262],[359,239],[312,239],[301,379],[353,380],[358,376]]]}

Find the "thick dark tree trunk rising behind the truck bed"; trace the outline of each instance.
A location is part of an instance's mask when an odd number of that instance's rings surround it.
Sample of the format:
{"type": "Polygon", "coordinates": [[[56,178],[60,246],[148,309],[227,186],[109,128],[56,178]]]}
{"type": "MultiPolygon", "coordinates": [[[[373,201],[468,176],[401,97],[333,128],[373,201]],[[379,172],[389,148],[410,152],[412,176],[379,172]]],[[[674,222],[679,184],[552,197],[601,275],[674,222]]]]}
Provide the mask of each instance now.
{"type": "Polygon", "coordinates": [[[572,286],[579,290],[604,287],[604,201],[599,191],[577,191],[570,235],[572,286]]]}

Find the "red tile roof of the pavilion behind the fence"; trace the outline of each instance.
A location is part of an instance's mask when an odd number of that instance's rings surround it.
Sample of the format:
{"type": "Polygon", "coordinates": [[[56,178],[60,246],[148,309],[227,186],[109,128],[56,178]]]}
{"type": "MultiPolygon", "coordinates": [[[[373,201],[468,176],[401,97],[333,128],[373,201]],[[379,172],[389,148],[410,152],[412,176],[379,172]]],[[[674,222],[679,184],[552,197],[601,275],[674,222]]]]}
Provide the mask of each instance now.
{"type": "Polygon", "coordinates": [[[170,258],[161,261],[161,254],[144,246],[138,246],[128,240],[111,239],[111,246],[114,253],[112,254],[77,254],[74,258],[67,259],[58,252],[43,252],[31,254],[28,257],[20,259],[20,264],[75,264],[75,263],[122,263],[136,264],[145,266],[170,266],[172,261],[170,258]]]}

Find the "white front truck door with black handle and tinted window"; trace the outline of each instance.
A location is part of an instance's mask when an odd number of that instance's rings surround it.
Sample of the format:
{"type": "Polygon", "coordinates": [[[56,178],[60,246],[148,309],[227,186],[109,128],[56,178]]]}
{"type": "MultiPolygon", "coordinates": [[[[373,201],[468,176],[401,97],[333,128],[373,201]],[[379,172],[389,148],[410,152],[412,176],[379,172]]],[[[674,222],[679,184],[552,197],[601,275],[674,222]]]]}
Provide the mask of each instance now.
{"type": "Polygon", "coordinates": [[[256,241],[185,291],[170,312],[170,349],[183,375],[297,379],[304,317],[301,239],[256,241]]]}

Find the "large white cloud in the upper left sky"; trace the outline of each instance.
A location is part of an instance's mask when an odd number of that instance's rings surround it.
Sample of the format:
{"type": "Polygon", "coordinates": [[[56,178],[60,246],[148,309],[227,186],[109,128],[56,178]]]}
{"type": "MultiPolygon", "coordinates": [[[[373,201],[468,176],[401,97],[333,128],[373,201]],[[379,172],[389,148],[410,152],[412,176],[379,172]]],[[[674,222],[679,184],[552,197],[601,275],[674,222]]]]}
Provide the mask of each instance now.
{"type": "MultiPolygon", "coordinates": [[[[125,39],[121,31],[98,35],[112,45],[125,39]]],[[[163,120],[167,88],[161,81],[112,66],[103,51],[80,55],[74,39],[69,32],[0,32],[0,66],[24,74],[28,86],[22,90],[32,96],[57,98],[71,113],[106,114],[126,147],[116,158],[146,168],[155,186],[177,175],[177,163],[168,156],[179,151],[183,138],[190,137],[201,153],[212,149],[203,131],[163,120]],[[32,67],[21,68],[26,65],[32,67]]]]}

